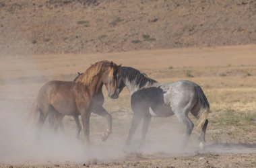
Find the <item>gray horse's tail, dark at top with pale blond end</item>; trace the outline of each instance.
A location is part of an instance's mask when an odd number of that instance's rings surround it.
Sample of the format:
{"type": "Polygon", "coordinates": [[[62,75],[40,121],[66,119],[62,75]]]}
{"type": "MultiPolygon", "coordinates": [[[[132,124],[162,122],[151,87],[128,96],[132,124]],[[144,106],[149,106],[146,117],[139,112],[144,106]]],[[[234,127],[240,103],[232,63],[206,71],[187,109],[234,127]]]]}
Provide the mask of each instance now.
{"type": "Polygon", "coordinates": [[[195,87],[195,91],[197,92],[197,102],[199,103],[199,112],[197,113],[197,130],[201,130],[210,112],[210,103],[199,85],[195,87]]]}

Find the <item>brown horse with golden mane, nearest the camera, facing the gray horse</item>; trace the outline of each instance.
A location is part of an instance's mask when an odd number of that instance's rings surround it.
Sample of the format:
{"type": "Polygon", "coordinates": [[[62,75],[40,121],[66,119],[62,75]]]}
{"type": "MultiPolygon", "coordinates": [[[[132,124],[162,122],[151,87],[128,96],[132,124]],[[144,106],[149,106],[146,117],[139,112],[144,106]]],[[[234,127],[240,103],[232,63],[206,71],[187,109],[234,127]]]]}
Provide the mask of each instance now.
{"type": "MultiPolygon", "coordinates": [[[[38,92],[32,115],[39,112],[37,122],[38,133],[42,130],[42,125],[48,114],[56,116],[60,128],[63,129],[62,120],[65,115],[82,117],[84,134],[87,144],[90,144],[90,115],[92,112],[92,99],[96,93],[102,91],[105,85],[108,96],[117,99],[117,81],[119,68],[113,62],[102,60],[96,62],[86,70],[83,75],[79,75],[75,81],[49,81],[45,83],[38,92]]],[[[99,113],[104,116],[104,112],[99,113]]],[[[49,117],[49,120],[53,118],[49,117]]],[[[49,122],[50,124],[53,122],[49,122]]],[[[81,127],[81,126],[80,126],[81,127]]],[[[109,126],[111,128],[111,125],[109,126]]]]}

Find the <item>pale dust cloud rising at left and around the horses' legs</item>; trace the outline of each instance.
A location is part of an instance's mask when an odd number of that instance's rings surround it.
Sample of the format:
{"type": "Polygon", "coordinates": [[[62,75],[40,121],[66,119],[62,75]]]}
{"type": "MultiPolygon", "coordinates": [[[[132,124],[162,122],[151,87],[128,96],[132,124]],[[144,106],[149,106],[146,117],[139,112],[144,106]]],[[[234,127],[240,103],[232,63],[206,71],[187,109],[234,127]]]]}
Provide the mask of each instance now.
{"type": "MultiPolygon", "coordinates": [[[[22,60],[18,63],[25,65],[33,62],[22,60]]],[[[21,71],[22,67],[26,67],[24,65],[19,65],[21,71]]],[[[28,65],[28,67],[32,66],[28,65]]],[[[33,71],[37,74],[43,74],[42,72],[38,72],[38,69],[34,69],[33,71]]],[[[26,73],[26,70],[24,70],[24,72],[26,73]]],[[[20,72],[20,74],[22,74],[22,72],[20,72]]],[[[101,142],[100,138],[96,140],[91,130],[93,144],[88,147],[83,140],[83,131],[81,132],[82,140],[77,140],[75,134],[69,134],[69,132],[66,132],[66,136],[61,132],[55,134],[52,130],[49,130],[48,119],[46,119],[40,134],[40,140],[38,140],[36,138],[36,129],[34,126],[31,128],[31,125],[28,124],[28,116],[36,93],[43,83],[33,83],[33,80],[31,83],[24,83],[24,81],[22,81],[23,78],[20,79],[16,77],[14,79],[8,78],[8,76],[8,73],[2,76],[2,79],[5,80],[0,86],[0,162],[69,161],[84,163],[90,159],[96,159],[99,162],[108,162],[122,160],[127,157],[127,153],[125,153],[123,149],[128,132],[125,136],[119,135],[115,132],[115,128],[113,134],[110,135],[110,138],[106,142],[101,142]]],[[[26,74],[24,74],[24,77],[26,77],[26,74]]],[[[66,118],[71,117],[66,116],[66,118]]],[[[113,116],[113,118],[115,118],[115,116],[113,116]]],[[[115,120],[116,119],[114,119],[113,122],[115,122],[115,120]]],[[[131,120],[131,116],[129,116],[129,120],[131,120]]],[[[106,126],[106,121],[104,120],[102,122],[104,122],[102,125],[106,126]]],[[[71,118],[70,123],[75,123],[73,118],[71,118]]],[[[90,124],[93,125],[94,123],[90,122],[90,124]]],[[[129,126],[130,122],[127,124],[126,130],[129,129],[129,126]]],[[[65,127],[69,126],[65,124],[65,127]]],[[[162,132],[162,134],[164,134],[164,130],[168,131],[168,129],[163,126],[158,129],[161,130],[160,132],[162,132]]],[[[73,128],[73,132],[75,131],[75,128],[73,128]]],[[[140,132],[141,130],[138,129],[133,143],[131,144],[131,149],[129,149],[129,153],[141,153],[141,151],[137,149],[141,137],[140,132]]],[[[158,130],[154,132],[153,129],[152,134],[154,134],[154,136],[149,135],[143,153],[181,152],[179,148],[175,147],[176,145],[173,145],[172,141],[179,142],[179,138],[177,138],[175,134],[172,134],[172,132],[168,131],[168,136],[163,137],[158,130]],[[156,134],[156,132],[158,133],[156,134]],[[161,142],[164,139],[166,141],[161,142]]]]}

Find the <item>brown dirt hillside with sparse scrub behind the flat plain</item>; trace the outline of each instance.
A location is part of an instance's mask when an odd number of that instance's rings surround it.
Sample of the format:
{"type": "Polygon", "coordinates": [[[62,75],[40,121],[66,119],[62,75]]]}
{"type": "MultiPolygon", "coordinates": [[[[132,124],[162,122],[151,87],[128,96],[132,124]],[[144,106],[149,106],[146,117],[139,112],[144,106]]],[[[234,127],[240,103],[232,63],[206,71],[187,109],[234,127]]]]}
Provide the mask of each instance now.
{"type": "Polygon", "coordinates": [[[0,55],[256,43],[256,1],[0,1],[0,55]]]}

